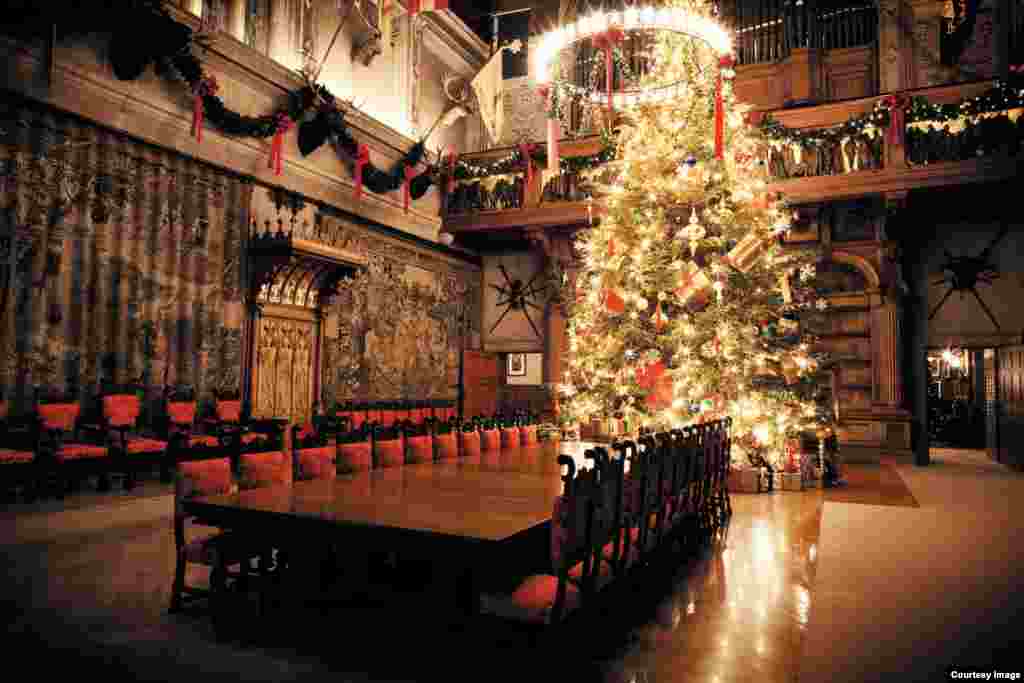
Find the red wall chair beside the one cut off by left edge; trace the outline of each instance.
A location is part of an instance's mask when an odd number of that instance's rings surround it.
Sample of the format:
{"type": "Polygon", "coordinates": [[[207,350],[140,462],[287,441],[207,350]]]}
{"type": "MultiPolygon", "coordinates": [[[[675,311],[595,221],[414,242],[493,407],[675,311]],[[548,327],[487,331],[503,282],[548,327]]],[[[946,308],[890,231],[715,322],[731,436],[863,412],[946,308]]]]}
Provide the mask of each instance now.
{"type": "Polygon", "coordinates": [[[113,466],[100,427],[81,424],[81,403],[66,397],[40,398],[36,404],[36,455],[56,479],[62,499],[82,479],[96,475],[100,490],[110,488],[113,466]]]}

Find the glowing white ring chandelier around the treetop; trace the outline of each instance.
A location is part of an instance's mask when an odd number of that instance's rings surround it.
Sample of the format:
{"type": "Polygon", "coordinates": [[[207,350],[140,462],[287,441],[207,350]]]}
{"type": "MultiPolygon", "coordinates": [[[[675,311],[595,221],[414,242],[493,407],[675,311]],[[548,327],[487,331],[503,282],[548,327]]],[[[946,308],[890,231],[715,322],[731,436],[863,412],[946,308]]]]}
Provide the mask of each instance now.
{"type": "MultiPolygon", "coordinates": [[[[623,11],[597,12],[541,36],[534,52],[537,82],[555,80],[552,62],[566,47],[587,39],[606,36],[609,31],[673,31],[708,44],[721,58],[732,54],[732,36],[715,19],[674,7],[629,7],[623,11]]],[[[683,94],[686,84],[670,83],[638,91],[615,92],[613,103],[630,106],[642,102],[657,103],[683,94]]],[[[598,97],[599,98],[599,97],[598,97]]]]}

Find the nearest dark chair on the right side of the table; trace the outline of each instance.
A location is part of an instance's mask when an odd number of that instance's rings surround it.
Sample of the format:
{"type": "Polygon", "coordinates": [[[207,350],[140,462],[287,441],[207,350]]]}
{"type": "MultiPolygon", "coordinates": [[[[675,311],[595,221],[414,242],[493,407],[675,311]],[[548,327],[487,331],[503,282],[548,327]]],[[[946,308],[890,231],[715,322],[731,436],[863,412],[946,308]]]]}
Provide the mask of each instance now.
{"type": "Polygon", "coordinates": [[[505,618],[538,625],[558,624],[589,602],[591,574],[606,566],[593,554],[591,533],[594,513],[594,472],[577,472],[568,456],[558,463],[568,472],[562,495],[555,499],[551,515],[551,561],[553,573],[523,579],[511,595],[483,595],[481,607],[505,618]]]}

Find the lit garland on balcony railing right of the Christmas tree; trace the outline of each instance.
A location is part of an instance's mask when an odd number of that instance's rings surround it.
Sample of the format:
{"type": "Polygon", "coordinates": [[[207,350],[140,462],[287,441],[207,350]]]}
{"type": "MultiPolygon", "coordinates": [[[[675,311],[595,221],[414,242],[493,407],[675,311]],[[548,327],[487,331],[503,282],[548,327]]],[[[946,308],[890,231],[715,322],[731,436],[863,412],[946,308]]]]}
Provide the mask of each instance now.
{"type": "Polygon", "coordinates": [[[770,115],[760,127],[771,145],[767,161],[776,177],[831,175],[879,166],[883,135],[905,141],[907,159],[914,164],[1017,150],[1024,140],[1024,118],[1015,110],[1022,106],[1024,73],[1014,67],[1010,79],[958,102],[888,95],[870,112],[829,128],[788,128],[770,115]],[[803,163],[805,155],[810,166],[803,163]]]}

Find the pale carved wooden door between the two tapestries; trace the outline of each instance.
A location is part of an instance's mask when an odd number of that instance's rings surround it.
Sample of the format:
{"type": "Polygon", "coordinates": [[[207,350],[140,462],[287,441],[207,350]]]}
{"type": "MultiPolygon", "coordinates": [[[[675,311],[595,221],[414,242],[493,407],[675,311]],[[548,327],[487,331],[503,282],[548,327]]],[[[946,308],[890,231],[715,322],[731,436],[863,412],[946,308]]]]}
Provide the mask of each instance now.
{"type": "Polygon", "coordinates": [[[312,414],[318,326],[307,311],[259,318],[253,373],[253,414],[305,422],[312,414]]]}

